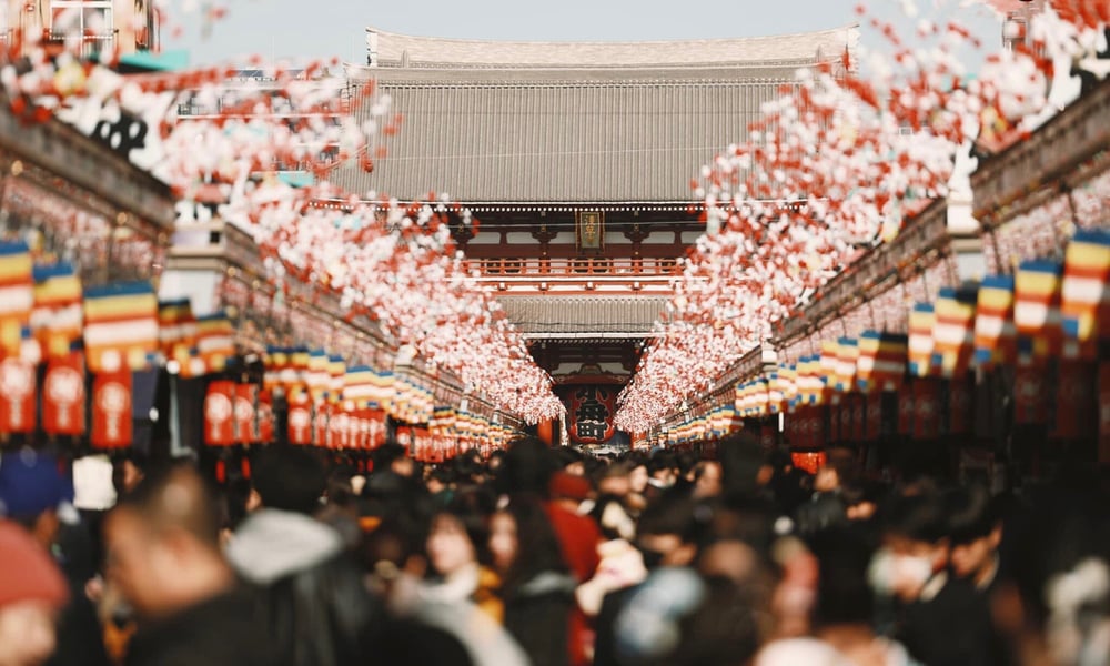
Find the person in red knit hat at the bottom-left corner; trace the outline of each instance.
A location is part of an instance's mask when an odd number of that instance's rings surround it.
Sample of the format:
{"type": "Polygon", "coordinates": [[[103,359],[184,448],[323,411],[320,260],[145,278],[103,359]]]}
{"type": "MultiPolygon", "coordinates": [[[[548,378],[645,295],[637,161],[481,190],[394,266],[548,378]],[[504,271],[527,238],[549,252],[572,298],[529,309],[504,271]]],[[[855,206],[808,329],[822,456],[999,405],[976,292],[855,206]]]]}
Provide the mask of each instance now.
{"type": "Polygon", "coordinates": [[[21,526],[0,519],[0,666],[37,666],[57,645],[65,581],[21,526]]]}

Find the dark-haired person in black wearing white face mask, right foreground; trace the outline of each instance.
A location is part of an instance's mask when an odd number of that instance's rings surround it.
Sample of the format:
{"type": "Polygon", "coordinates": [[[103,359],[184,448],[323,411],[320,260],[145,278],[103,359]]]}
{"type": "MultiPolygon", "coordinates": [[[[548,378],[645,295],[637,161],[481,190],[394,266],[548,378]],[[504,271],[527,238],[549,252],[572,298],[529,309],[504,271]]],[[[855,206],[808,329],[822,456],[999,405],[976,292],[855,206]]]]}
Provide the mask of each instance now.
{"type": "Polygon", "coordinates": [[[939,493],[894,497],[884,511],[871,584],[894,598],[895,638],[915,659],[926,666],[993,664],[987,605],[949,568],[947,508],[939,493]]]}

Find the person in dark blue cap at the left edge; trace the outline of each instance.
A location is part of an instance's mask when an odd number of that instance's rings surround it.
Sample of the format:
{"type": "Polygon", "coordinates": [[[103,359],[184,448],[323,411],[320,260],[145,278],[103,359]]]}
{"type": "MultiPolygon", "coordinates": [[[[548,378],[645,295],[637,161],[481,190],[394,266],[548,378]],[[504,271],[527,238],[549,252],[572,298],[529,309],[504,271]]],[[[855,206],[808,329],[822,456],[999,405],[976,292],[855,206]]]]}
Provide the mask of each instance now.
{"type": "Polygon", "coordinates": [[[73,483],[53,456],[22,448],[0,457],[0,514],[21,525],[52,555],[69,587],[69,603],[58,622],[57,650],[50,666],[107,666],[103,630],[85,596],[95,575],[90,536],[73,508],[73,483]]]}

